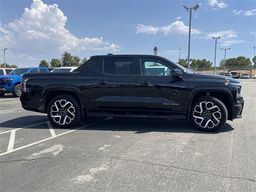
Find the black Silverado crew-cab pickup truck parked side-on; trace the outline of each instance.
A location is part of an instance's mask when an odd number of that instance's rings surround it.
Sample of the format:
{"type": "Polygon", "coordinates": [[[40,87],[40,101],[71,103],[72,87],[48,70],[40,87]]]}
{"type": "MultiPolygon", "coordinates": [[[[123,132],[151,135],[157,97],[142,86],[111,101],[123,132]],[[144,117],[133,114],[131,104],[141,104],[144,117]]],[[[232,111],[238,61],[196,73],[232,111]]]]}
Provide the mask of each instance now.
{"type": "Polygon", "coordinates": [[[241,118],[244,106],[237,80],[152,55],[92,56],[74,72],[24,74],[21,86],[22,107],[58,127],[86,116],[174,118],[216,131],[241,118]]]}

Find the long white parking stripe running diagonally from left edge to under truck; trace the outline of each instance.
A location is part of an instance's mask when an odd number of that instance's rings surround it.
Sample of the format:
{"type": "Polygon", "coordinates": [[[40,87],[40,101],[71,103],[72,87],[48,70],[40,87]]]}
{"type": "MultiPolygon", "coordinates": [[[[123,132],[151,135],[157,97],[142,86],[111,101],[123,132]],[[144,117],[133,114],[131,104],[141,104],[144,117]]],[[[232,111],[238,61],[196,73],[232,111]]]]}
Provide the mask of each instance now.
{"type": "Polygon", "coordinates": [[[19,147],[19,148],[13,149],[13,150],[11,150],[11,151],[9,151],[9,152],[8,152],[8,151],[6,151],[6,152],[4,152],[4,153],[1,153],[1,154],[0,154],[0,156],[2,156],[2,155],[6,155],[6,154],[9,154],[9,153],[11,153],[11,152],[18,151],[18,150],[21,150],[21,149],[24,149],[24,148],[27,148],[27,147],[30,147],[30,146],[33,146],[33,145],[36,145],[36,144],[38,144],[38,143],[45,142],[45,141],[50,140],[50,139],[52,139],[52,138],[56,138],[56,137],[58,137],[58,136],[65,135],[65,134],[68,134],[68,133],[74,132],[74,131],[76,131],[76,130],[82,129],[82,128],[86,128],[86,127],[92,126],[92,125],[94,125],[94,124],[98,124],[98,123],[103,122],[103,121],[106,121],[106,120],[108,120],[108,119],[110,119],[110,118],[106,118],[106,119],[104,119],[104,120],[101,120],[101,121],[98,121],[98,122],[95,122],[95,123],[91,123],[91,124],[86,125],[86,126],[82,126],[82,127],[76,128],[76,129],[72,129],[72,130],[66,131],[66,132],[61,133],[61,134],[58,134],[58,135],[56,135],[56,136],[54,136],[54,137],[49,137],[49,138],[46,138],[46,139],[43,139],[43,140],[40,140],[40,141],[37,141],[37,142],[31,143],[31,144],[28,144],[28,145],[22,146],[22,147],[19,147]]]}

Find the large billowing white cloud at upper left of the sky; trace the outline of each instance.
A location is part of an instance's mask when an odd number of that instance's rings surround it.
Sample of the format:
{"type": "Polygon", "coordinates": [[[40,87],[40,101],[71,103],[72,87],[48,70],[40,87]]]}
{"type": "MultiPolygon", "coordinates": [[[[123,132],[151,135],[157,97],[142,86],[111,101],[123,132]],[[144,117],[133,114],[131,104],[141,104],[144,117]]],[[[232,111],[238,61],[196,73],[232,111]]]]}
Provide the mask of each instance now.
{"type": "Polygon", "coordinates": [[[41,0],[33,0],[31,8],[25,8],[21,18],[6,25],[8,29],[0,23],[3,34],[0,35],[0,46],[8,45],[9,50],[20,55],[58,51],[78,53],[81,50],[117,51],[121,48],[116,44],[108,45],[102,37],[77,38],[65,28],[66,21],[67,17],[57,4],[47,5],[41,0]]]}

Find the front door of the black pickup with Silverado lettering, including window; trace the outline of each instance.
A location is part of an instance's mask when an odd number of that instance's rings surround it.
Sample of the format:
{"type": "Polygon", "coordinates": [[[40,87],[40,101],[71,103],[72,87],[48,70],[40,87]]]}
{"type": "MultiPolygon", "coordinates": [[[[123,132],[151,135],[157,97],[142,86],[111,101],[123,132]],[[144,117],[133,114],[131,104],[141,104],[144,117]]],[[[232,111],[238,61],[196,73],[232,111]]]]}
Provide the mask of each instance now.
{"type": "Polygon", "coordinates": [[[172,77],[175,65],[154,58],[137,58],[138,108],[150,114],[185,114],[188,100],[184,80],[172,77]]]}

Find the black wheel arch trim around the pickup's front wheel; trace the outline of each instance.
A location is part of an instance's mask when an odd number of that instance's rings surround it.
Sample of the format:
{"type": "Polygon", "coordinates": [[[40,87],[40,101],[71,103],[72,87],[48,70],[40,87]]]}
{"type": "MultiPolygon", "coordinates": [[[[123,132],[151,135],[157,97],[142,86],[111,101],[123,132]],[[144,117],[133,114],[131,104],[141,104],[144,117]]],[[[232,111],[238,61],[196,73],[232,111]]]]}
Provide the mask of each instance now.
{"type": "Polygon", "coordinates": [[[188,99],[188,116],[187,118],[190,119],[191,115],[191,108],[194,104],[194,102],[202,97],[202,96],[213,96],[218,98],[220,101],[224,103],[228,110],[228,120],[233,120],[233,108],[232,105],[232,95],[230,90],[228,88],[222,88],[222,87],[212,87],[212,88],[203,88],[203,87],[197,87],[196,89],[192,90],[189,95],[188,99]]]}

